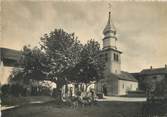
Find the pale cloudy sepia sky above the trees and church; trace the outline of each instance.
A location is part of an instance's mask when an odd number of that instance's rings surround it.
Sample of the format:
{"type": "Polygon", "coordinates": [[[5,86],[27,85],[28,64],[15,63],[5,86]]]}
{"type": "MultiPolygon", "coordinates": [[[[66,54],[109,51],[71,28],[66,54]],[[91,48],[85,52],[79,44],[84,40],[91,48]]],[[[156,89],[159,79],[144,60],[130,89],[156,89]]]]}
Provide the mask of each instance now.
{"type": "MultiPolygon", "coordinates": [[[[139,72],[167,64],[167,2],[110,2],[117,30],[122,70],[139,72]]],[[[55,28],[74,32],[82,43],[95,39],[102,46],[108,2],[3,1],[0,46],[20,50],[39,45],[55,28]]]]}

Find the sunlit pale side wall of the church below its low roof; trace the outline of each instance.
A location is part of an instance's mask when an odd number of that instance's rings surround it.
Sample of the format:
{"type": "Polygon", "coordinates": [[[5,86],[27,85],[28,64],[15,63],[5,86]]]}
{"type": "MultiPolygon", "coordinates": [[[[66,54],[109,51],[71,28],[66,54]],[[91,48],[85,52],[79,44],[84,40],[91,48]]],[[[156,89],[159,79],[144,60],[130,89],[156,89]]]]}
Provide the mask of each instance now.
{"type": "Polygon", "coordinates": [[[136,91],[138,89],[138,82],[133,81],[118,81],[118,95],[126,95],[127,91],[136,91]]]}

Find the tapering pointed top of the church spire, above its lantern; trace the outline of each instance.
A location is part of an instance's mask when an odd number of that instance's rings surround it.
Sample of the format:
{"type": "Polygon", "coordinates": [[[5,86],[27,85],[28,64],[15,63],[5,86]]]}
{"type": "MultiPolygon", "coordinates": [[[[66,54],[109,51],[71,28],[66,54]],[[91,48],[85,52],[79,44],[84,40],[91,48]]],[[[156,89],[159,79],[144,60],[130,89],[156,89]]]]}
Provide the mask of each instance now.
{"type": "Polygon", "coordinates": [[[107,22],[106,27],[105,27],[104,30],[103,30],[103,33],[104,33],[104,34],[107,33],[107,32],[116,33],[115,26],[114,26],[114,24],[112,23],[112,19],[111,19],[111,12],[109,12],[108,22],[107,22]]]}

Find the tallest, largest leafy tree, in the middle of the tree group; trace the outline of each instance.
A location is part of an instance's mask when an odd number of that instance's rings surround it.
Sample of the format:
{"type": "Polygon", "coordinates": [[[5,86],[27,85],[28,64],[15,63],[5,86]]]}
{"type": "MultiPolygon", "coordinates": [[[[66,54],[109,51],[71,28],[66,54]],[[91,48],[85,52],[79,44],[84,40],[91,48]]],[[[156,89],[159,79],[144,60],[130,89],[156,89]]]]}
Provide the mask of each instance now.
{"type": "Polygon", "coordinates": [[[74,33],[69,34],[62,29],[45,34],[41,42],[41,49],[49,60],[48,77],[61,87],[67,80],[64,73],[80,61],[82,44],[74,33]]]}

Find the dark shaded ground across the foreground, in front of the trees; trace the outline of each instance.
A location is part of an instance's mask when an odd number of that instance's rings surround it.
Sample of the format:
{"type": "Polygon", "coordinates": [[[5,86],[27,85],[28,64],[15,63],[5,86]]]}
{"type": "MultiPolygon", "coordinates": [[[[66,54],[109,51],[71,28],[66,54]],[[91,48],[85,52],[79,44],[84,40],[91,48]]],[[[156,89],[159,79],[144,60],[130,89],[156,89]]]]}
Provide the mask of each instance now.
{"type": "Polygon", "coordinates": [[[73,109],[52,102],[22,105],[2,111],[2,117],[136,117],[142,102],[100,101],[96,106],[73,109]]]}

